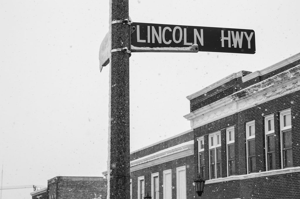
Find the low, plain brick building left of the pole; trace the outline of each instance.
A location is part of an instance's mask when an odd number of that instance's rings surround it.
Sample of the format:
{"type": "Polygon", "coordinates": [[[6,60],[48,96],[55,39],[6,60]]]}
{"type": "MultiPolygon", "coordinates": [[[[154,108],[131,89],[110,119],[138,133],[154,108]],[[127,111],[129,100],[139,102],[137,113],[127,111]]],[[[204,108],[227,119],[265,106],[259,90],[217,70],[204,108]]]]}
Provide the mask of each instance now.
{"type": "Polygon", "coordinates": [[[46,188],[30,194],[32,199],[106,199],[107,179],[57,176],[48,180],[46,188]]]}

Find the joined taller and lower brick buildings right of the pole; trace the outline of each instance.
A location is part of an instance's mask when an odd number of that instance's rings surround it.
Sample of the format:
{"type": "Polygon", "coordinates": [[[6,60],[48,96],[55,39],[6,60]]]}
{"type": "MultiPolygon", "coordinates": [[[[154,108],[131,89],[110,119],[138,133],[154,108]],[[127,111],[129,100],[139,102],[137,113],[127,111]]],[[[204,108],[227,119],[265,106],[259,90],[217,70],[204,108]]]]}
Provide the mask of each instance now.
{"type": "Polygon", "coordinates": [[[131,199],[198,197],[198,173],[205,199],[300,198],[300,53],[187,98],[191,130],[131,152],[131,199]]]}

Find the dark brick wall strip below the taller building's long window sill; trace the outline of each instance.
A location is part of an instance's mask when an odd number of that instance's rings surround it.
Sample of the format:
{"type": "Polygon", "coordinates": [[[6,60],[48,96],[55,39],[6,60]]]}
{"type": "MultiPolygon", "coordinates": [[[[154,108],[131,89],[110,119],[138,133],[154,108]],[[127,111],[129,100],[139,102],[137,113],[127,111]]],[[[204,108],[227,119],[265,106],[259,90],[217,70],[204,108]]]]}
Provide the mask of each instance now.
{"type": "Polygon", "coordinates": [[[300,173],[257,177],[205,185],[202,199],[300,198],[300,173]]]}

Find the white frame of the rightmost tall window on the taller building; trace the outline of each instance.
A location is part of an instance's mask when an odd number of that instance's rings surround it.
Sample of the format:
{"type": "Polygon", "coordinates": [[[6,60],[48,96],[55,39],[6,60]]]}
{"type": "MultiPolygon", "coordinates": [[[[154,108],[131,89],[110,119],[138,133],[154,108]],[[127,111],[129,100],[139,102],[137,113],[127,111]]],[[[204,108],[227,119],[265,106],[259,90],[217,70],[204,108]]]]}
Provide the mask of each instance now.
{"type": "MultiPolygon", "coordinates": [[[[291,109],[287,109],[287,110],[283,110],[283,111],[280,111],[280,153],[281,153],[281,168],[288,168],[288,167],[283,167],[283,132],[286,132],[286,131],[291,131],[292,133],[292,113],[291,113],[291,109]],[[284,126],[284,116],[286,115],[291,115],[291,125],[289,126],[284,126]]],[[[291,135],[292,136],[292,135],[291,135]]],[[[293,151],[293,148],[291,147],[292,151],[293,151]]],[[[292,160],[293,160],[293,157],[292,157],[292,160]]],[[[293,164],[293,163],[292,163],[293,164]]]]}

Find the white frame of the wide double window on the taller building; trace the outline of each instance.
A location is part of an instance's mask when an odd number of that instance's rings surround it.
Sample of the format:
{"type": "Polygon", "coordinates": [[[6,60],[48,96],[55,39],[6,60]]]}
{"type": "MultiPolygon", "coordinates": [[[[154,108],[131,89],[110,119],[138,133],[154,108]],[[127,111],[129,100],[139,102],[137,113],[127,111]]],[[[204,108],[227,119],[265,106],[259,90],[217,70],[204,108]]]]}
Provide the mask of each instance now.
{"type": "Polygon", "coordinates": [[[222,162],[221,162],[221,176],[217,177],[217,149],[221,147],[221,131],[217,131],[211,134],[208,134],[208,164],[209,164],[209,179],[217,179],[217,178],[222,178],[222,162]],[[218,144],[218,139],[217,136],[220,135],[220,144],[218,144]],[[213,139],[213,143],[211,143],[211,138],[213,139]],[[213,145],[212,145],[213,144],[213,145]],[[214,149],[214,173],[215,177],[212,178],[211,176],[211,149],[214,149]]]}

